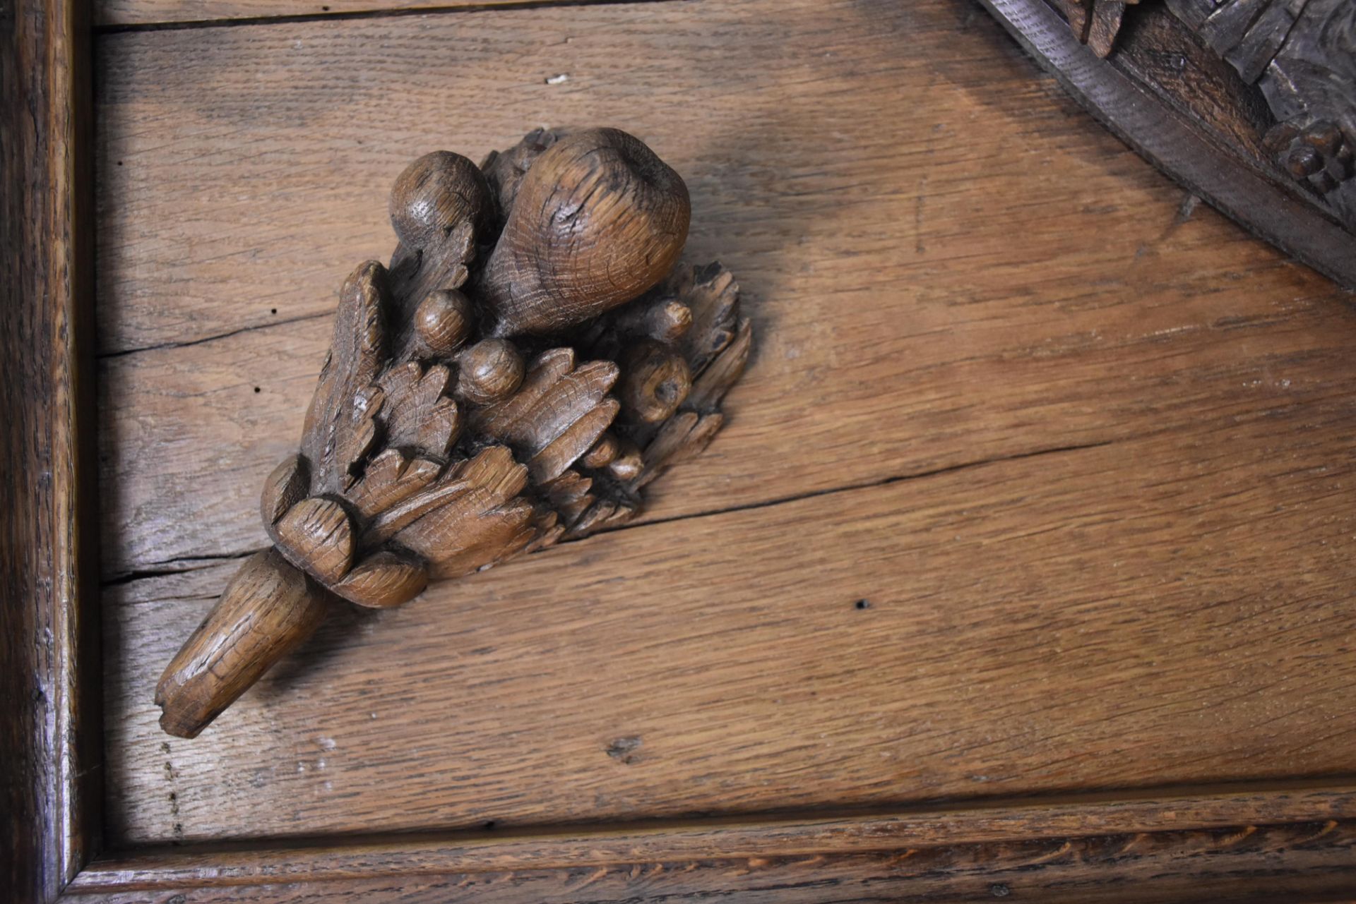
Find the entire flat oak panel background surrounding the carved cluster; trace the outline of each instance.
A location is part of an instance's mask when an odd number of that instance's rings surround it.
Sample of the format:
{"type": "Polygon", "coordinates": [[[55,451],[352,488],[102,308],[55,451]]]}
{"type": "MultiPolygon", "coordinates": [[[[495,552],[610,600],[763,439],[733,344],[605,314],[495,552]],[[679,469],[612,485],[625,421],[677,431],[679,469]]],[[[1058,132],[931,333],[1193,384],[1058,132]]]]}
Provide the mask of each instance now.
{"type": "Polygon", "coordinates": [[[1356,317],[978,7],[126,33],[100,65],[118,842],[1356,771],[1356,317]],[[678,520],[351,614],[164,739],[159,664],[213,557],[264,543],[391,180],[580,121],[687,178],[693,258],[761,336],[721,438],[654,485],[678,520]]]}

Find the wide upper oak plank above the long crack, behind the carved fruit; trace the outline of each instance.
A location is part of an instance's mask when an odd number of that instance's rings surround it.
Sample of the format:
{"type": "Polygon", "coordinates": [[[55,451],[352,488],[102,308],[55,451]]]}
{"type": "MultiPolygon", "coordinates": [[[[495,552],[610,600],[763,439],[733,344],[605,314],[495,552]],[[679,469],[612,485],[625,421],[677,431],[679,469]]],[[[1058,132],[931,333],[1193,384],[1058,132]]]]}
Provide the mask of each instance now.
{"type": "Polygon", "coordinates": [[[758,329],[732,424],[654,488],[654,518],[1356,375],[1328,282],[1191,214],[970,4],[692,11],[106,37],[106,347],[168,343],[104,362],[106,572],[260,545],[258,488],[293,449],[334,289],[389,248],[388,183],[549,119],[626,123],[689,175],[693,255],[731,266],[758,329]]]}

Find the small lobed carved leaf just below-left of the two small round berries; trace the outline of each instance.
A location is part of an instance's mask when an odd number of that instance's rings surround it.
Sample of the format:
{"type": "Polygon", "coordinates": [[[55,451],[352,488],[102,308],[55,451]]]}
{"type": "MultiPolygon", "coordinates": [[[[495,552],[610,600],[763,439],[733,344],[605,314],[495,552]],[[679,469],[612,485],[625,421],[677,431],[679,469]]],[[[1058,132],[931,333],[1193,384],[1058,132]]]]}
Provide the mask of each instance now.
{"type": "Polygon", "coordinates": [[[461,431],[457,403],[447,397],[452,373],[445,365],[424,370],[418,361],[388,369],[378,378],[385,393],[378,419],[386,446],[430,458],[446,458],[461,431]]]}

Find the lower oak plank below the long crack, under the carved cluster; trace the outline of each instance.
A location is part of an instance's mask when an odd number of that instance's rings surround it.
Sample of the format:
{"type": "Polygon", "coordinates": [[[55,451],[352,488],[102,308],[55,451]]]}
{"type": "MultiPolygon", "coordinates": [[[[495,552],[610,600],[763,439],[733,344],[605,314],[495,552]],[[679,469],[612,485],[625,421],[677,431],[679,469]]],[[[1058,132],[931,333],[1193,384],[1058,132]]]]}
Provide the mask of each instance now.
{"type": "Polygon", "coordinates": [[[118,843],[1356,771],[1349,393],[648,525],[334,619],[195,741],[229,569],[106,592],[118,843]],[[858,609],[857,600],[868,600],[858,609]]]}

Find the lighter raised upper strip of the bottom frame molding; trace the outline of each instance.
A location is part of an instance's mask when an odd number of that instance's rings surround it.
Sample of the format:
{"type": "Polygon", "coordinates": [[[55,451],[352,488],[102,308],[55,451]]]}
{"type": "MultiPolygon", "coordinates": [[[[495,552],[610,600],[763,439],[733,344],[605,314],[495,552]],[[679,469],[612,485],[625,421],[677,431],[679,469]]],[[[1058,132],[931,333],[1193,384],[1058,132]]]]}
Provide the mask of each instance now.
{"type": "Polygon", "coordinates": [[[283,842],[245,850],[186,844],[110,854],[81,873],[71,890],[89,895],[119,888],[251,886],[452,871],[597,870],[671,861],[750,861],[1193,831],[1215,834],[1223,847],[1243,825],[1333,825],[1349,820],[1353,809],[1352,789],[1283,782],[1267,792],[1197,789],[1191,796],[1121,792],[1116,800],[1082,796],[1009,800],[990,806],[934,804],[857,816],[422,834],[376,840],[283,842]]]}

